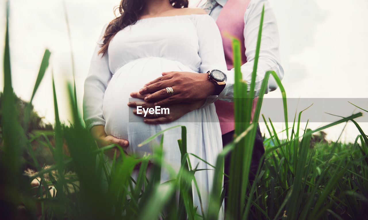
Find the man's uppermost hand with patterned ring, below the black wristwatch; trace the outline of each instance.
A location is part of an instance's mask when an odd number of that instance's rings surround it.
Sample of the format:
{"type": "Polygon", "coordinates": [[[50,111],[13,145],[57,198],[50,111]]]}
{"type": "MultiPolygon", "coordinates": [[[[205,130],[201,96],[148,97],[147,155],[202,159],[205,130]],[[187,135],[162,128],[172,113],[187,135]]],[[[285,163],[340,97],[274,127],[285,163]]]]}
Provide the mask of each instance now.
{"type": "Polygon", "coordinates": [[[215,93],[215,84],[208,80],[208,74],[195,72],[163,72],[159,77],[139,90],[145,95],[145,102],[155,102],[155,106],[167,106],[182,102],[198,102],[215,93]],[[172,87],[174,95],[166,92],[166,87],[172,87]]]}

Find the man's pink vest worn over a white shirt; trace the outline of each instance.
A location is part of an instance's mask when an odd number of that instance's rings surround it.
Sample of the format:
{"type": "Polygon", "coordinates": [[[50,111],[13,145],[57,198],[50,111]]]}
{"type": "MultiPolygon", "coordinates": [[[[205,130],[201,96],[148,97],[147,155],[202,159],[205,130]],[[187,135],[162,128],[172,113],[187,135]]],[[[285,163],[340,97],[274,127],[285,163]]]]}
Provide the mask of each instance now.
{"type": "MultiPolygon", "coordinates": [[[[231,40],[224,36],[224,33],[226,32],[240,40],[242,65],[247,63],[244,46],[244,14],[249,2],[250,0],[228,0],[216,21],[222,35],[222,43],[224,46],[225,60],[228,70],[231,70],[234,66],[231,40]]],[[[252,116],[255,112],[257,99],[258,98],[253,102],[252,116]]],[[[234,103],[218,100],[215,102],[215,106],[222,134],[233,131],[235,129],[234,103]]]]}

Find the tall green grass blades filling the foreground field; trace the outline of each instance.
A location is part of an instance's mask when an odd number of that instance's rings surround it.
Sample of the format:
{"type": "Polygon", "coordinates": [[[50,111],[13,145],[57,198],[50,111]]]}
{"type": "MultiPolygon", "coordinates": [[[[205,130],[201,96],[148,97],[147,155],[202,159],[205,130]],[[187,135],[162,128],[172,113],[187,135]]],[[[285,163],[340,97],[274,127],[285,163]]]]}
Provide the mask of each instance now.
{"type": "MultiPolygon", "coordinates": [[[[7,13],[8,14],[8,13],[7,13]]],[[[262,12],[263,19],[263,12],[262,12]]],[[[258,62],[262,34],[259,27],[255,67],[258,62]]],[[[8,21],[8,19],[7,19],[8,21]]],[[[8,25],[7,25],[8,27],[8,25]]],[[[181,127],[178,140],[181,168],[178,173],[162,160],[162,143],[156,153],[141,159],[124,156],[105,162],[104,151],[114,145],[98,148],[85,128],[76,106],[75,84],[69,85],[73,123],[64,125],[59,120],[55,82],[52,82],[55,107],[55,125],[52,134],[39,131],[30,134],[29,117],[17,120],[11,83],[9,33],[6,29],[4,50],[4,93],[1,103],[3,143],[0,155],[0,207],[4,219],[217,219],[224,199],[222,187],[224,156],[231,153],[229,211],[227,219],[367,219],[368,218],[368,138],[354,121],[362,113],[342,118],[321,128],[300,128],[300,116],[294,118],[291,128],[286,121],[286,139],[280,139],[270,119],[263,121],[269,132],[264,140],[264,163],[259,165],[255,181],[248,181],[252,146],[260,116],[266,81],[274,77],[284,100],[287,116],[286,92],[273,71],[266,72],[254,122],[250,122],[255,72],[252,82],[242,81],[240,72],[240,43],[233,39],[236,84],[234,86],[236,137],[224,147],[217,158],[208,207],[194,207],[192,191],[197,191],[194,173],[198,171],[188,160],[186,128],[181,127]],[[247,92],[248,88],[250,91],[247,92]],[[341,142],[311,142],[312,135],[337,124],[353,122],[361,135],[351,144],[341,142]],[[21,126],[23,125],[23,126],[21,126]],[[32,146],[35,142],[50,149],[55,164],[42,168],[32,146]],[[65,150],[68,150],[68,154],[65,150]],[[232,152],[231,152],[232,150],[232,152]],[[31,161],[22,160],[28,152],[31,161]],[[148,161],[152,175],[146,178],[148,161]],[[140,163],[137,180],[131,178],[134,167],[140,163]],[[23,168],[32,165],[38,171],[30,177],[23,168]],[[171,171],[173,180],[159,184],[161,167],[171,171]],[[31,187],[31,181],[40,178],[40,185],[31,187]],[[192,188],[192,183],[194,188],[192,188]],[[57,193],[49,191],[53,186],[57,193]],[[179,193],[177,203],[176,192],[179,193]],[[199,210],[202,215],[199,215],[199,210]]],[[[50,52],[46,50],[35,89],[42,81],[48,66],[50,52]]],[[[26,108],[27,111],[31,107],[26,108]]],[[[362,109],[364,110],[364,109],[362,109]]],[[[366,110],[364,110],[366,111],[366,110]]],[[[28,112],[25,116],[29,115],[28,112]]],[[[162,131],[161,140],[164,138],[162,131]]],[[[150,138],[142,144],[148,143],[150,138]]]]}

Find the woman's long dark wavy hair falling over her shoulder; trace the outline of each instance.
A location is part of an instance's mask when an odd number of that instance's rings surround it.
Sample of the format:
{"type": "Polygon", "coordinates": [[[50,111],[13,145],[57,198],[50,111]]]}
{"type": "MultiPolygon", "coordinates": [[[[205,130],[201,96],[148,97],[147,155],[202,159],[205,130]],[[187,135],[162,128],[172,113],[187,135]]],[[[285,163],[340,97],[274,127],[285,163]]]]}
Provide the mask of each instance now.
{"type": "MultiPolygon", "coordinates": [[[[98,54],[103,56],[107,53],[109,43],[117,32],[126,26],[135,24],[141,17],[145,1],[149,0],[121,0],[119,5],[120,16],[114,18],[109,25],[107,25],[105,34],[103,35],[103,43],[100,45],[101,49],[98,54]]],[[[168,0],[174,8],[187,8],[188,0],[168,0]]]]}

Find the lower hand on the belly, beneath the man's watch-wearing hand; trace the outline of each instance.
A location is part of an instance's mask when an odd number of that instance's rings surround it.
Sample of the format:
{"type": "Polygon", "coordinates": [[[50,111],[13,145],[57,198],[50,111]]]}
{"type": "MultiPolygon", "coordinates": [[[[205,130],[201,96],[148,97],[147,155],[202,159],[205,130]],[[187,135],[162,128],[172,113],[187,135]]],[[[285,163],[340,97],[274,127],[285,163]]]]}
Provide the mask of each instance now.
{"type": "MultiPolygon", "coordinates": [[[[133,98],[138,99],[144,99],[145,96],[141,95],[137,92],[133,92],[130,94],[133,98]]],[[[168,106],[170,109],[170,114],[160,114],[158,118],[155,118],[152,114],[147,113],[146,118],[144,119],[144,122],[146,124],[164,124],[169,123],[171,121],[175,121],[178,118],[183,117],[188,112],[191,112],[195,109],[198,109],[204,104],[205,100],[199,101],[199,102],[193,102],[193,103],[178,103],[178,104],[172,104],[168,106]]],[[[154,104],[151,102],[144,102],[143,100],[141,102],[128,102],[129,107],[133,107],[133,113],[137,116],[144,117],[144,114],[137,114],[137,106],[142,106],[143,108],[154,108],[154,104]]]]}

